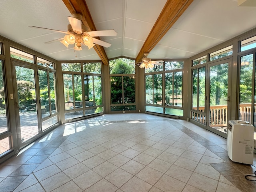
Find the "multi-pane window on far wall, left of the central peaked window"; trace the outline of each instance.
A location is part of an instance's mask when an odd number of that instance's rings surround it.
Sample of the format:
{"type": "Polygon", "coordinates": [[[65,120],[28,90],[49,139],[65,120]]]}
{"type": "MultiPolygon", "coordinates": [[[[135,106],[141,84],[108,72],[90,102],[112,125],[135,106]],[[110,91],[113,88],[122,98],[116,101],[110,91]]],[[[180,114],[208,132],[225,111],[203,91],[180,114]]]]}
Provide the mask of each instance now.
{"type": "Polygon", "coordinates": [[[103,112],[101,62],[62,63],[65,120],[103,112]]]}

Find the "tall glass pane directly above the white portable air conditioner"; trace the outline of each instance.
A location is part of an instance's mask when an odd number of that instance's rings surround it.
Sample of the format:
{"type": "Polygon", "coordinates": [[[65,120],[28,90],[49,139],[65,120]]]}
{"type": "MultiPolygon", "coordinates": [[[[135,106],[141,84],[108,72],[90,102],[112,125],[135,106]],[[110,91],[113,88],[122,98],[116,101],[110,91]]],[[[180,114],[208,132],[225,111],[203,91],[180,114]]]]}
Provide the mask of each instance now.
{"type": "Polygon", "coordinates": [[[240,59],[239,119],[251,122],[253,54],[240,59]]]}

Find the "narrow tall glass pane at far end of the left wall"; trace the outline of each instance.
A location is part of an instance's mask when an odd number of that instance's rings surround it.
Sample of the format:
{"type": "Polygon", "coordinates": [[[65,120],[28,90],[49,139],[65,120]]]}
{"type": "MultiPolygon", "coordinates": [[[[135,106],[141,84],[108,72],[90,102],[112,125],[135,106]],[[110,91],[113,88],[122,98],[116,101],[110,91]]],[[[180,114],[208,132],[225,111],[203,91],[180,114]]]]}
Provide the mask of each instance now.
{"type": "Polygon", "coordinates": [[[52,114],[57,112],[57,102],[56,102],[56,74],[54,72],[49,72],[49,84],[50,84],[50,103],[52,114]]]}

